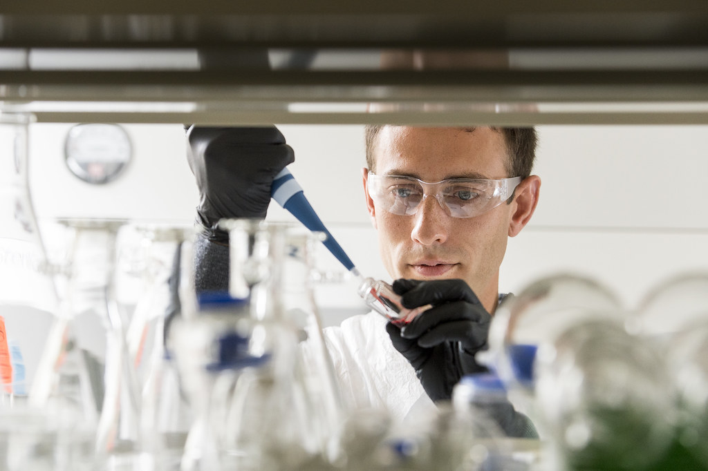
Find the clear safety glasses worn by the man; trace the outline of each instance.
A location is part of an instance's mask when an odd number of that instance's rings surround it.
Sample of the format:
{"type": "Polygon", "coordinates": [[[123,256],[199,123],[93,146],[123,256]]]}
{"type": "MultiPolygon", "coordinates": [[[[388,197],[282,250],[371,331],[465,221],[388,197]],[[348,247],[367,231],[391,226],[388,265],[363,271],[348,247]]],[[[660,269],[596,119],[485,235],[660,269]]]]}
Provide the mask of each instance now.
{"type": "Polygon", "coordinates": [[[400,175],[375,175],[369,172],[368,192],[377,206],[392,214],[411,216],[428,196],[438,200],[454,218],[473,218],[506,201],[521,182],[521,177],[501,180],[450,178],[428,183],[400,175]]]}

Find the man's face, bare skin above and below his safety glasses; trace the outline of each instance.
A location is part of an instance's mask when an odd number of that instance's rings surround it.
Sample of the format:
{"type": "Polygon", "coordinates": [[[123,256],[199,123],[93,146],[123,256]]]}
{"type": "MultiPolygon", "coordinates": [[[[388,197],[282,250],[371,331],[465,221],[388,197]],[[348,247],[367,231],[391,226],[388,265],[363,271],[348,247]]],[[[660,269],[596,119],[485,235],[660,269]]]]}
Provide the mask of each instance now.
{"type": "MultiPolygon", "coordinates": [[[[469,131],[387,126],[377,136],[375,158],[372,170],[377,175],[409,175],[426,182],[516,176],[507,174],[503,134],[489,127],[469,131]]],[[[435,197],[423,199],[412,216],[377,208],[368,194],[367,206],[393,279],[461,278],[485,305],[496,301],[515,203],[504,202],[467,219],[448,216],[435,197]]]]}

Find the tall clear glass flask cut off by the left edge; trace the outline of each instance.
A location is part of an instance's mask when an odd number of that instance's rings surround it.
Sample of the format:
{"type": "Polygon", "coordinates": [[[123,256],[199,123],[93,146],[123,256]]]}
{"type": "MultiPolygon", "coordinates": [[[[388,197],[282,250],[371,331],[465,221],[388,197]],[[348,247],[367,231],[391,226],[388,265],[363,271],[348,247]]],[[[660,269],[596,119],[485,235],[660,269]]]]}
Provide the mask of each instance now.
{"type": "Polygon", "coordinates": [[[31,117],[0,112],[0,394],[25,397],[56,310],[28,184],[31,117]]]}

